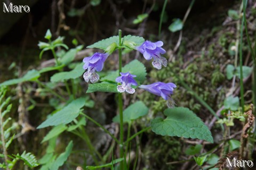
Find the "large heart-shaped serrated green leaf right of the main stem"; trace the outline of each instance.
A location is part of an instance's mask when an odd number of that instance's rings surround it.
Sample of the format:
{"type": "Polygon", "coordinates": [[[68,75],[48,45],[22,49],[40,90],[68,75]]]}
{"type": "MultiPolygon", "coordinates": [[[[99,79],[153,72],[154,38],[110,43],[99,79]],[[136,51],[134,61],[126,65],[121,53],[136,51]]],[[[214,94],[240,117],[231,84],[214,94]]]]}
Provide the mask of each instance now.
{"type": "Polygon", "coordinates": [[[165,109],[167,117],[155,118],[151,121],[152,131],[160,135],[202,139],[213,143],[211,131],[204,122],[185,107],[165,109]]]}

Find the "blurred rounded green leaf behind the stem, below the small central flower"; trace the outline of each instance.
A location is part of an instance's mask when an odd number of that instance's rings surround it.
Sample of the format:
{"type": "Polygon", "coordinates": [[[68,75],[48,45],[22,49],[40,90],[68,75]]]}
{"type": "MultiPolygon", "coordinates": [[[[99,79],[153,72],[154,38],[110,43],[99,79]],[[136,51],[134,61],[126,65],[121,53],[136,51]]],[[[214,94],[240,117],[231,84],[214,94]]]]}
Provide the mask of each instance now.
{"type": "MultiPolygon", "coordinates": [[[[142,101],[137,101],[124,110],[123,122],[129,123],[146,114],[148,114],[148,107],[142,101]]],[[[120,123],[120,116],[116,115],[113,118],[113,122],[120,123]]]]}

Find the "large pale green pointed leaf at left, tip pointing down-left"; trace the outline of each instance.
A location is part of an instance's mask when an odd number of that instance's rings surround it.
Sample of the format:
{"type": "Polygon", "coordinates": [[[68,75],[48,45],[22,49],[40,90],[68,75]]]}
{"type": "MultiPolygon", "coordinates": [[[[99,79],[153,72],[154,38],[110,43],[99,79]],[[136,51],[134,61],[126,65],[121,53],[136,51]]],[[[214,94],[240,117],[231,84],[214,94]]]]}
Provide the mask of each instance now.
{"type": "Polygon", "coordinates": [[[78,98],[73,100],[70,104],[62,108],[60,111],[47,118],[37,129],[45,128],[47,126],[57,126],[59,124],[68,124],[73,121],[81,112],[81,108],[85,105],[85,98],[78,98]]]}

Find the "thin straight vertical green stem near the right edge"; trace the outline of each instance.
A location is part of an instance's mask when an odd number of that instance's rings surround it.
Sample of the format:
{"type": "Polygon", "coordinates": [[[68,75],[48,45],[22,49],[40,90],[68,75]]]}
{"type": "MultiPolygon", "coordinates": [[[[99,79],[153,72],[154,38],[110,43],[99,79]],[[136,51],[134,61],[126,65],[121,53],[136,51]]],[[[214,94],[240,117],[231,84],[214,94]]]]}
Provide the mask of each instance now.
{"type": "Polygon", "coordinates": [[[244,83],[243,83],[243,27],[244,18],[242,18],[242,23],[240,27],[240,46],[239,46],[239,67],[240,67],[240,96],[241,96],[241,106],[242,113],[244,113],[244,83]]]}

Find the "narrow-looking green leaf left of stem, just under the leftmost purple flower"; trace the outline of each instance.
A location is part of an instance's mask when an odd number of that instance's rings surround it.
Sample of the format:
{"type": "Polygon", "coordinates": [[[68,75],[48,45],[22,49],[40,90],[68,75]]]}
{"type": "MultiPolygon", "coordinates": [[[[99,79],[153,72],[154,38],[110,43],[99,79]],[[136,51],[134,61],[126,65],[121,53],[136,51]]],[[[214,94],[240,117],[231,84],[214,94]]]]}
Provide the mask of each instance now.
{"type": "Polygon", "coordinates": [[[95,92],[95,91],[118,92],[117,84],[106,83],[106,82],[89,84],[89,87],[86,92],[95,92]]]}

